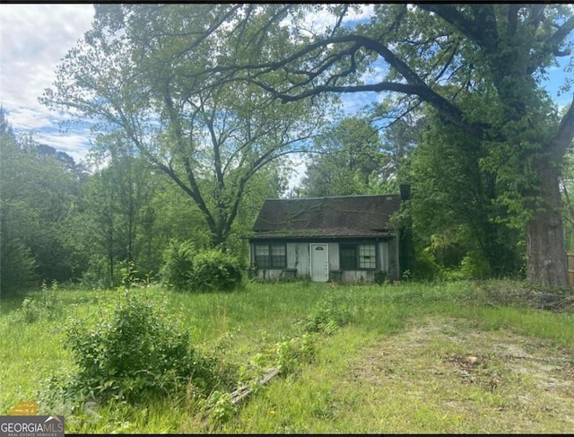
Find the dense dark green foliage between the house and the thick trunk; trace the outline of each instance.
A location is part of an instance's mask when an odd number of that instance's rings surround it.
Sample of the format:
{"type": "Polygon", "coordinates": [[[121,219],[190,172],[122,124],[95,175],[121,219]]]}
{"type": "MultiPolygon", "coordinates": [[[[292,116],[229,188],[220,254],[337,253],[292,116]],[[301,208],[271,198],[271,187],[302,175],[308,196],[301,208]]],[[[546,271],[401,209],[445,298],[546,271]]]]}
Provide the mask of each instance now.
{"type": "Polygon", "coordinates": [[[523,241],[497,197],[504,184],[481,166],[488,150],[458,127],[427,118],[409,157],[414,234],[441,267],[481,267],[482,276],[517,275],[523,241]],[[448,170],[447,170],[448,169],[448,170]],[[464,264],[463,263],[463,264],[464,264]]]}

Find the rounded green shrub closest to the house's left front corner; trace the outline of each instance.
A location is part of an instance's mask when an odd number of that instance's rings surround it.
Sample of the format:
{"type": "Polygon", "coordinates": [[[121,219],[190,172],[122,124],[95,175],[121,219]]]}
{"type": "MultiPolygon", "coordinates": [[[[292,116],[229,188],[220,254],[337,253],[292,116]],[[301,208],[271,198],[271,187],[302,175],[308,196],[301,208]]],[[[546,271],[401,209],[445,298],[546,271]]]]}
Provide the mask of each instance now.
{"type": "Polygon", "coordinates": [[[196,253],[188,281],[192,290],[230,292],[242,284],[243,271],[239,261],[220,250],[196,253]]]}

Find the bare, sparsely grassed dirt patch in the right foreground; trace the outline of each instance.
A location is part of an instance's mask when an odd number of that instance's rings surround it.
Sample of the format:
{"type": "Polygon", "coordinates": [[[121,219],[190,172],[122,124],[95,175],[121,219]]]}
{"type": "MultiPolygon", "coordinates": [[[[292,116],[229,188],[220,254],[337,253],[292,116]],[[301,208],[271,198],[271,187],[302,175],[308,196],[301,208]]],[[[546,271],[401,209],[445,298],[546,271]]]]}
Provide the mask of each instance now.
{"type": "Polygon", "coordinates": [[[380,432],[574,430],[574,354],[566,348],[429,318],[363,352],[344,385],[373,393],[370,402],[385,417],[380,432]]]}

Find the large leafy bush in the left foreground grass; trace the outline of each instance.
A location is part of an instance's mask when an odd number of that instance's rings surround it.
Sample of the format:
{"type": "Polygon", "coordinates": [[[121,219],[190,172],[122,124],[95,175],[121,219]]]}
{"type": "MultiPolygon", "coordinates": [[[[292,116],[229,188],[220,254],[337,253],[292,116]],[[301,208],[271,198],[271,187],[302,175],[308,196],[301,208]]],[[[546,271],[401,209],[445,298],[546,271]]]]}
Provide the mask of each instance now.
{"type": "MultiPolygon", "coordinates": [[[[129,292],[100,318],[72,320],[66,346],[77,366],[64,381],[66,398],[135,402],[177,394],[188,383],[206,396],[222,382],[215,360],[190,346],[176,320],[129,292]]],[[[53,379],[51,389],[62,382],[53,379]]]]}

